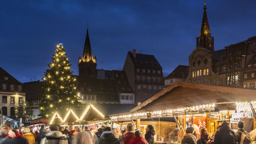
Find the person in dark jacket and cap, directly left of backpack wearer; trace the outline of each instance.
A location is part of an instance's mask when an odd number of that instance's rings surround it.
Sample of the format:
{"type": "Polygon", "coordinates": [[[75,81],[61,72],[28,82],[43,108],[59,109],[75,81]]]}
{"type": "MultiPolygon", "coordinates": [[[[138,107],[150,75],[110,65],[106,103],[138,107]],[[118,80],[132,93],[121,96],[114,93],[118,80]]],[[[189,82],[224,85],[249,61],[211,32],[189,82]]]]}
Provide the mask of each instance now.
{"type": "Polygon", "coordinates": [[[235,133],[229,128],[226,120],[219,126],[214,136],[214,144],[234,144],[235,133]]]}

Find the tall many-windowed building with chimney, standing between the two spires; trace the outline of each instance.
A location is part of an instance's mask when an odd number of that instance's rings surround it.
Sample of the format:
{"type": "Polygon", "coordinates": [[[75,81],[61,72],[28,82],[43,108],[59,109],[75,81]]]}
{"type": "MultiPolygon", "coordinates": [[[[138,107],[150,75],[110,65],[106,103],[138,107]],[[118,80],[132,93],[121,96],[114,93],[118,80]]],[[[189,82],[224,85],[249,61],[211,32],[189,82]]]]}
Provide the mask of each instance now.
{"type": "Polygon", "coordinates": [[[135,105],[151,98],[164,86],[162,67],[153,55],[129,51],[124,62],[128,82],[135,95],[135,105]]]}

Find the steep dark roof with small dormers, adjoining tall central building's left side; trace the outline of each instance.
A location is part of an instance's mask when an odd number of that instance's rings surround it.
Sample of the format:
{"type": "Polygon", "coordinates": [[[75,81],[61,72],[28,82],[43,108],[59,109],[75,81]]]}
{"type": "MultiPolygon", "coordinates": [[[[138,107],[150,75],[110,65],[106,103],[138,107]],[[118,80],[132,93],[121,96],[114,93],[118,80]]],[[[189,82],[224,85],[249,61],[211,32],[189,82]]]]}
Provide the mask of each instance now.
{"type": "Polygon", "coordinates": [[[120,93],[134,93],[132,91],[132,88],[130,84],[128,83],[128,79],[126,76],[125,71],[116,71],[113,70],[113,76],[112,79],[114,79],[114,83],[117,87],[117,91],[120,93]],[[125,88],[125,90],[123,90],[125,88]],[[128,90],[129,88],[129,90],[128,90]]]}

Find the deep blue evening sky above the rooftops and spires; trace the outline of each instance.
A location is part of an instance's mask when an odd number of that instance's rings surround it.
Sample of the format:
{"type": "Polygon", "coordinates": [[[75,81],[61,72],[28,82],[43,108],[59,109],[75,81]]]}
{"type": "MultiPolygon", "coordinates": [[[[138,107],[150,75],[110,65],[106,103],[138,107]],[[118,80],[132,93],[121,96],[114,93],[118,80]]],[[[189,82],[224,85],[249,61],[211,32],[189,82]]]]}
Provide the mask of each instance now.
{"type": "MultiPolygon", "coordinates": [[[[255,0],[207,0],[215,50],[256,35],[255,0]]],[[[153,54],[164,75],[188,65],[203,0],[9,0],[0,5],[0,67],[20,82],[44,75],[62,41],[77,74],[86,23],[97,68],[121,70],[127,52],[153,54]]]]}

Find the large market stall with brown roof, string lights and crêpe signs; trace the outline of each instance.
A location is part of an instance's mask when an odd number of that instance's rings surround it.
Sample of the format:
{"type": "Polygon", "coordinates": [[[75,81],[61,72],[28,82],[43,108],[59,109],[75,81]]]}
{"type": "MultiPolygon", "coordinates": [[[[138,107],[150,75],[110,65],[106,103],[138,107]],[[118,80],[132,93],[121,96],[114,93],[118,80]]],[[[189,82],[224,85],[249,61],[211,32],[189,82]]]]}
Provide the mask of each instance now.
{"type": "Polygon", "coordinates": [[[153,118],[158,135],[155,140],[167,143],[173,142],[173,135],[176,142],[180,142],[189,126],[197,130],[198,136],[202,127],[214,134],[223,120],[234,131],[237,130],[237,122],[244,121],[245,129],[250,132],[255,129],[255,94],[256,90],[245,88],[176,82],[129,113],[109,117],[114,122],[135,121],[143,133],[145,130],[140,126],[141,122],[153,118]],[[175,126],[168,122],[175,122],[175,126]]]}

